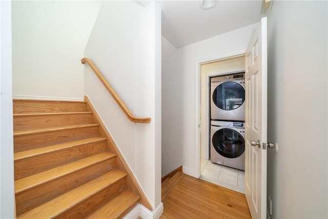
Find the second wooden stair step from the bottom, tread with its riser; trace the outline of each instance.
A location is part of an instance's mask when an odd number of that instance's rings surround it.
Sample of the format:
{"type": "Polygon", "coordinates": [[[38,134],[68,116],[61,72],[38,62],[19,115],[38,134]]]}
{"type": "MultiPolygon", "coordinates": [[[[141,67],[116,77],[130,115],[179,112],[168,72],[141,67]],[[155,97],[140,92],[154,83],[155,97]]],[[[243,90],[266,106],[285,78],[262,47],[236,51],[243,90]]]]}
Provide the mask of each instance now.
{"type": "Polygon", "coordinates": [[[125,189],[126,173],[113,170],[25,212],[17,218],[83,218],[125,189]]]}

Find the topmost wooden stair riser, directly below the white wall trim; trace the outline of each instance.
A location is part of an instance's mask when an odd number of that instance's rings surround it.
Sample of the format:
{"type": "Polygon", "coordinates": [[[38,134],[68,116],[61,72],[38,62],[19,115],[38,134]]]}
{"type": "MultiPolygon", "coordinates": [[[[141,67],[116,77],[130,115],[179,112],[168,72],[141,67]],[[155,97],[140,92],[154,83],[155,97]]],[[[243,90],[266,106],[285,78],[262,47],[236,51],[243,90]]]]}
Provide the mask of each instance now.
{"type": "Polygon", "coordinates": [[[85,102],[13,100],[13,113],[85,112],[85,102]]]}

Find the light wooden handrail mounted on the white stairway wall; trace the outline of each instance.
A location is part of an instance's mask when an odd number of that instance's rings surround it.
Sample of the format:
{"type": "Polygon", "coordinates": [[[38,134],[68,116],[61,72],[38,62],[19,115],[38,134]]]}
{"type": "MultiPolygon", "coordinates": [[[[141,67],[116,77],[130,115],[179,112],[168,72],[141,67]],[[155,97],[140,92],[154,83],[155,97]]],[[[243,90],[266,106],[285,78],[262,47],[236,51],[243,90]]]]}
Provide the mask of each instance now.
{"type": "Polygon", "coordinates": [[[97,75],[97,77],[100,79],[100,82],[103,83],[107,91],[112,95],[114,98],[114,101],[118,104],[119,108],[124,112],[124,114],[134,123],[150,123],[151,118],[142,118],[142,117],[135,117],[131,111],[128,109],[128,107],[123,103],[121,98],[117,95],[117,93],[114,91],[114,89],[108,84],[105,77],[100,73],[100,71],[95,67],[93,62],[89,58],[82,58],[81,59],[82,64],[88,63],[88,65],[91,67],[93,72],[97,75]]]}

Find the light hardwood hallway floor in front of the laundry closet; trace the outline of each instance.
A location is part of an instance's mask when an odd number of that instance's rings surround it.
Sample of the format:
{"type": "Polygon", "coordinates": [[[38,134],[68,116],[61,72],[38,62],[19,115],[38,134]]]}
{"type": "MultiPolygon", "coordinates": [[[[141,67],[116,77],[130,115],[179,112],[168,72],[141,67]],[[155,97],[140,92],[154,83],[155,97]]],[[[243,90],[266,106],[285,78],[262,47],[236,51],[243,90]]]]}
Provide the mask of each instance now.
{"type": "Polygon", "coordinates": [[[245,195],[184,175],[162,200],[160,218],[252,218],[245,195]]]}

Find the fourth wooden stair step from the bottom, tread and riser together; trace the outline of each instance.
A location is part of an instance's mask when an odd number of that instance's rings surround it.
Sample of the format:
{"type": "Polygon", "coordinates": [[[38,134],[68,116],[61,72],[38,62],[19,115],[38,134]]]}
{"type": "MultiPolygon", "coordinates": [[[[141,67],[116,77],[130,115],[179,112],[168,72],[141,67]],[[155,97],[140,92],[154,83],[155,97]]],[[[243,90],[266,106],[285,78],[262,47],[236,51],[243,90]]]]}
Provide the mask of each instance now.
{"type": "Polygon", "coordinates": [[[106,151],[105,137],[35,148],[14,153],[15,180],[106,151]]]}

